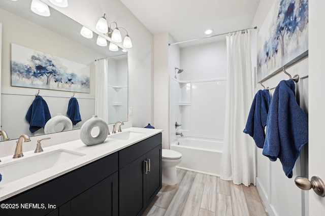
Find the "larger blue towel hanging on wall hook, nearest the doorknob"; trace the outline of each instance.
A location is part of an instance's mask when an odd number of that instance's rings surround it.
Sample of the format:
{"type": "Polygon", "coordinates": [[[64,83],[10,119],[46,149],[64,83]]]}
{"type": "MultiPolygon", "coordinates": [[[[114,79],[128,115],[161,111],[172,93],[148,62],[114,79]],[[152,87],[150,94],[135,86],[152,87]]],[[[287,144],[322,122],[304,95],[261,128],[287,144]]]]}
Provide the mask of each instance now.
{"type": "Polygon", "coordinates": [[[295,97],[293,80],[282,80],[271,99],[263,155],[271,161],[280,159],[288,178],[301,148],[308,142],[308,120],[295,97]]]}

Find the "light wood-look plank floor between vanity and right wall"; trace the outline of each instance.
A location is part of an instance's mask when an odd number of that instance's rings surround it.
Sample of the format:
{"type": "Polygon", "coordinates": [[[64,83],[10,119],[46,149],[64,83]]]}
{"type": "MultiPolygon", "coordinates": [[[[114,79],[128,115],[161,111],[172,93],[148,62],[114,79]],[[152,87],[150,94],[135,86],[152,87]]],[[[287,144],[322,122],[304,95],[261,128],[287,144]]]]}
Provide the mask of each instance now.
{"type": "Polygon", "coordinates": [[[268,215],[253,185],[235,185],[184,169],[177,169],[177,178],[177,185],[163,185],[143,216],[268,215]]]}

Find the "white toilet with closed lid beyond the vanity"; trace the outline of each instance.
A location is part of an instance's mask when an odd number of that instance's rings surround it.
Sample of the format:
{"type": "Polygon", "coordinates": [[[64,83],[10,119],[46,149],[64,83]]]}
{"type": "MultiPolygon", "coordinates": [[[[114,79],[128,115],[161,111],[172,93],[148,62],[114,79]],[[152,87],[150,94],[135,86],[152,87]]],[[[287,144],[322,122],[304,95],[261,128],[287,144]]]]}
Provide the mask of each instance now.
{"type": "Polygon", "coordinates": [[[163,149],[161,153],[163,167],[163,184],[176,185],[177,171],[176,165],[182,161],[182,154],[174,150],[163,149]]]}

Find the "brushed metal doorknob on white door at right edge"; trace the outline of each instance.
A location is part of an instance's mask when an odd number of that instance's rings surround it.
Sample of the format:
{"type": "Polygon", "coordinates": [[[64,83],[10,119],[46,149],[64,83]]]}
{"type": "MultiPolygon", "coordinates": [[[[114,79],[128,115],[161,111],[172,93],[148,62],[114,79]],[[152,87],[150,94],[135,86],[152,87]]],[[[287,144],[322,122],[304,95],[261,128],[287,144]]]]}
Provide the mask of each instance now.
{"type": "Polygon", "coordinates": [[[295,183],[298,188],[302,190],[313,189],[317,195],[321,197],[325,196],[325,184],[318,176],[312,176],[310,181],[308,180],[308,178],[298,176],[295,178],[295,183]]]}

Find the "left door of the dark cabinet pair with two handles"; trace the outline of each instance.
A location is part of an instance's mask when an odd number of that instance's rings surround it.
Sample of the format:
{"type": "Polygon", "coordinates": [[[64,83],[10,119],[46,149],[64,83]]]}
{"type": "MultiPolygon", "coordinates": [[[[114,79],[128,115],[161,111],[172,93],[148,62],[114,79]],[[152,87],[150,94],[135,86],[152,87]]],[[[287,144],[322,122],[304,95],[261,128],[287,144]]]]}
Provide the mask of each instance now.
{"type": "Polygon", "coordinates": [[[145,156],[127,164],[119,171],[119,213],[125,216],[141,215],[146,208],[145,156]]]}

